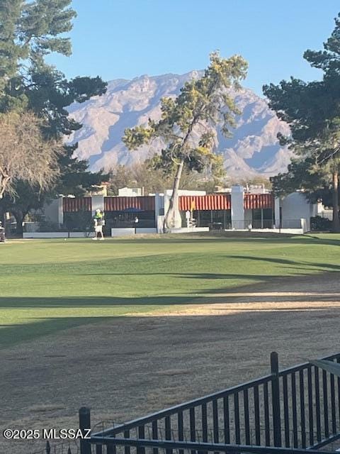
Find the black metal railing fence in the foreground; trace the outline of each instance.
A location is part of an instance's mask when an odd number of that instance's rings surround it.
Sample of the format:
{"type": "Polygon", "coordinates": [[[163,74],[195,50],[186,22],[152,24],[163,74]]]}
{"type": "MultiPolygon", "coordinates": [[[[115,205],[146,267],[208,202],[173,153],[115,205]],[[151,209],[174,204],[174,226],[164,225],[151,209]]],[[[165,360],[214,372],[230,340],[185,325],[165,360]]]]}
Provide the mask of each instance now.
{"type": "MultiPolygon", "coordinates": [[[[323,359],[340,362],[340,353],[323,359]]],[[[91,428],[89,409],[80,409],[79,422],[91,428]]],[[[310,363],[279,370],[274,352],[269,375],[93,430],[80,453],[312,453],[338,438],[340,378],[310,363]]]]}

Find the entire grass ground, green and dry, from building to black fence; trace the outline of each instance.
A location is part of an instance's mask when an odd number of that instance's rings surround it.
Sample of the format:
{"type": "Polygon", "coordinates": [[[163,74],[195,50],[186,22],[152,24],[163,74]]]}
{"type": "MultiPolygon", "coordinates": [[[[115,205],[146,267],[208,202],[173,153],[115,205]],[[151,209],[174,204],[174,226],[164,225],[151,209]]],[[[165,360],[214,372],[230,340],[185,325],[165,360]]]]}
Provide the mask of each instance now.
{"type": "MultiPolygon", "coordinates": [[[[128,421],[336,353],[340,236],[0,245],[0,433],[128,421]]],[[[44,448],[0,437],[1,453],[44,448]]]]}

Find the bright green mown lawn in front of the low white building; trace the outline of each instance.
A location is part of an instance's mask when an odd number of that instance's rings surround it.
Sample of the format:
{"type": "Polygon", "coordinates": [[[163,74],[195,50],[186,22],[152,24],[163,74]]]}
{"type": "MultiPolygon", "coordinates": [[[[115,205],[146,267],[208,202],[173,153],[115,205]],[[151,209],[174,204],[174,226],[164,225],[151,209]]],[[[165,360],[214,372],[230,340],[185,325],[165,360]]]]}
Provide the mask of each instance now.
{"type": "Polygon", "coordinates": [[[103,318],[214,300],[277,276],[336,272],[339,235],[161,236],[0,244],[0,346],[103,318]]]}

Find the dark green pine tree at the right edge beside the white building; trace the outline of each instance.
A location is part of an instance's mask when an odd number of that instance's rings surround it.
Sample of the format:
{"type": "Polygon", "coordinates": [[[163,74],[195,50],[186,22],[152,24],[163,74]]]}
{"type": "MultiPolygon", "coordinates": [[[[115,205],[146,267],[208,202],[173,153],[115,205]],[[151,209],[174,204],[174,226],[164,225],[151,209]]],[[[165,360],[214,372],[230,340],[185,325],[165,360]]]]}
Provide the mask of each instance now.
{"type": "Polygon", "coordinates": [[[273,187],[278,193],[304,189],[312,194],[328,186],[332,192],[334,231],[340,231],[339,18],[324,50],[307,50],[304,54],[305,60],[323,71],[321,81],[303,82],[292,77],[263,87],[271,109],[290,126],[290,137],[280,136],[280,142],[288,144],[296,157],[286,174],[273,178],[273,187]]]}

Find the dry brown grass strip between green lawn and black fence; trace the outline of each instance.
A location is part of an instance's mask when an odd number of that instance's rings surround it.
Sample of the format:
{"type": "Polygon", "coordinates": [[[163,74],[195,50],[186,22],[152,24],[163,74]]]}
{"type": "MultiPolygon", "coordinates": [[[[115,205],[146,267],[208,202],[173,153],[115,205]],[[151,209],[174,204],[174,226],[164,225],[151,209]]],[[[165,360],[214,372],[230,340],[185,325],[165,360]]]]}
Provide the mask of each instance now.
{"type": "MultiPolygon", "coordinates": [[[[272,350],[282,366],[339,351],[337,273],[251,290],[1,351],[1,427],[77,428],[83,405],[93,423],[126,421],[266,374],[272,350]]],[[[0,436],[1,453],[31,449],[0,436]]]]}

